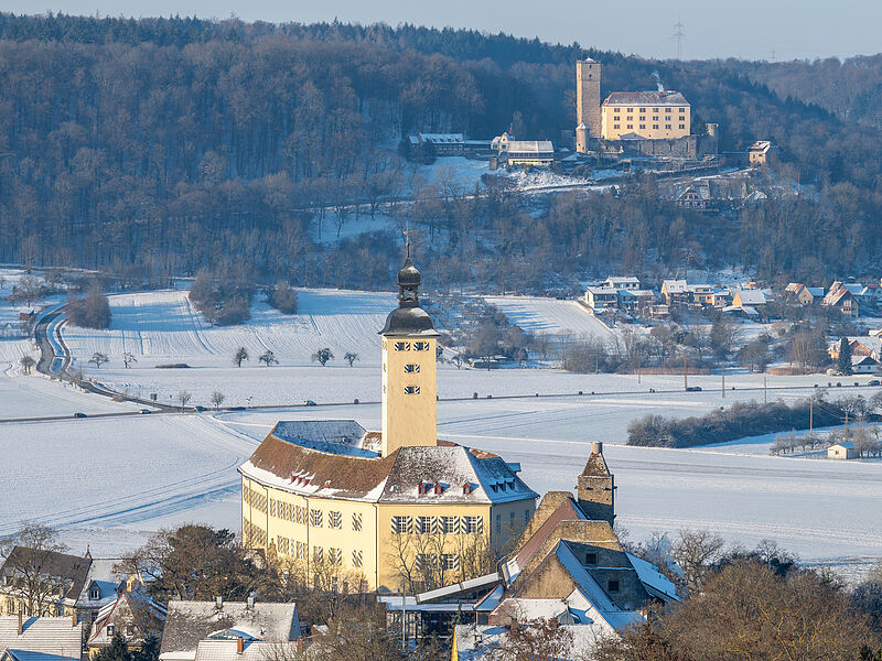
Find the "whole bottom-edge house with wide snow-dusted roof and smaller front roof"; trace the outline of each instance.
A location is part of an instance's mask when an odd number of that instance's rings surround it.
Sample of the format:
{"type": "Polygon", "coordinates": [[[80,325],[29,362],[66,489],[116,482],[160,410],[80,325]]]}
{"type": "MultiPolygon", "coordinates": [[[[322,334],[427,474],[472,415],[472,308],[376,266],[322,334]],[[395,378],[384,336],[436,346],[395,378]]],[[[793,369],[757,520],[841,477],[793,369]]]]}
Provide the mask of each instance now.
{"type": "MultiPolygon", "coordinates": [[[[280,646],[297,647],[302,633],[295,604],[169,602],[160,661],[272,659],[280,646]]],[[[282,657],[287,658],[287,657],[282,657]]],[[[293,655],[291,657],[293,658],[293,655]]]]}

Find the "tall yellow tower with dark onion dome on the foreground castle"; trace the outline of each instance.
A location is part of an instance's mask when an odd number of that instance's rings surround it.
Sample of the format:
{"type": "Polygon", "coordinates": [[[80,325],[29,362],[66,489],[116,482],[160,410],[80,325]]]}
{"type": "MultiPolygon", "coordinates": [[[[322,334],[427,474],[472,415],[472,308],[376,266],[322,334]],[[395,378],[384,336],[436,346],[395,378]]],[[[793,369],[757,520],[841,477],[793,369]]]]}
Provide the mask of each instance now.
{"type": "Polygon", "coordinates": [[[398,271],[398,307],[383,337],[383,456],[404,446],[437,445],[435,343],[432,318],[420,307],[420,272],[410,261],[398,271]]]}

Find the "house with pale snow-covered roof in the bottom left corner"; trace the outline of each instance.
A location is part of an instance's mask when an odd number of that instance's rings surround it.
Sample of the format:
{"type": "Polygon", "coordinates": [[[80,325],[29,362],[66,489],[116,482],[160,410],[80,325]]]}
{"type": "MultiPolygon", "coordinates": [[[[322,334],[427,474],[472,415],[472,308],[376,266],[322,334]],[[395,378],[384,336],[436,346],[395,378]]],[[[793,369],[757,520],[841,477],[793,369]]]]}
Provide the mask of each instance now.
{"type": "Polygon", "coordinates": [[[79,661],[82,649],[76,616],[0,617],[0,661],[79,661]]]}

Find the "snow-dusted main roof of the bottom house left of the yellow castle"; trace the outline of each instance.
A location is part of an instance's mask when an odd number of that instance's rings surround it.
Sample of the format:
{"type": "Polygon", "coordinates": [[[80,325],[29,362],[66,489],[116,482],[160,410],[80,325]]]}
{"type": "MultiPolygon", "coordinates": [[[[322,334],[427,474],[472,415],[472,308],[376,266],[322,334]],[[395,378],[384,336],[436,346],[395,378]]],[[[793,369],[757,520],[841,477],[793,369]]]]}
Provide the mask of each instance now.
{"type": "Polygon", "coordinates": [[[193,659],[201,640],[235,629],[256,640],[284,642],[301,638],[295,604],[256,602],[169,602],[160,659],[193,659]]]}

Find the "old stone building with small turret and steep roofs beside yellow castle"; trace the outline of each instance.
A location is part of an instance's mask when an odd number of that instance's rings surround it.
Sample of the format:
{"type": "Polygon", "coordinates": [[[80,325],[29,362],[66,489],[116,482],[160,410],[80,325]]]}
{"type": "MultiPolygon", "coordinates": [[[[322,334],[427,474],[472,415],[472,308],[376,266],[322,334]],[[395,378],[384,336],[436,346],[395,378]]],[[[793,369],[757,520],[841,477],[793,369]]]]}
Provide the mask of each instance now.
{"type": "MultiPolygon", "coordinates": [[[[454,658],[484,658],[515,624],[538,618],[567,627],[582,651],[644,618],[654,603],[677,600],[675,586],[627,553],[612,522],[615,485],[601,443],[578,477],[577,496],[545,495],[517,551],[499,571],[407,598],[410,636],[454,633],[454,658]],[[454,628],[455,626],[455,628],[454,628]]],[[[401,597],[379,597],[401,627],[401,597]]]]}

